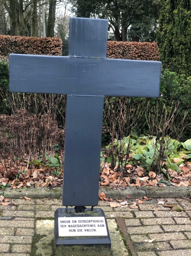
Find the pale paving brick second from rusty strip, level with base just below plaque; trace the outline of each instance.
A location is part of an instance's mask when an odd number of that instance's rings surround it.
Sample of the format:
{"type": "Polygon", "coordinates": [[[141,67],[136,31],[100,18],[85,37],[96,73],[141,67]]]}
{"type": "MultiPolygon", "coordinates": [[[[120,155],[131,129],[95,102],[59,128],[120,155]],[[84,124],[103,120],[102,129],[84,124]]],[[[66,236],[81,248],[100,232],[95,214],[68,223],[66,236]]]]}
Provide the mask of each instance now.
{"type": "Polygon", "coordinates": [[[183,233],[163,233],[163,234],[151,234],[149,235],[150,239],[155,241],[172,241],[172,240],[183,240],[186,239],[186,236],[183,233]]]}

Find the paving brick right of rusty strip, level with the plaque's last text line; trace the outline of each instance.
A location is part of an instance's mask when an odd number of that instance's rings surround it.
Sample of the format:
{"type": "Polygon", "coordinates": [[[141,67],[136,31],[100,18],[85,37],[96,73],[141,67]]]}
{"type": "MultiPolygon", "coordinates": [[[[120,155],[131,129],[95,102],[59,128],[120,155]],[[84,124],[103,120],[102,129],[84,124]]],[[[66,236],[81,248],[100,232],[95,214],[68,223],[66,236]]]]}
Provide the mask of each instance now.
{"type": "Polygon", "coordinates": [[[141,227],[128,227],[127,231],[130,235],[147,234],[147,233],[163,233],[160,226],[141,226],[141,227]]]}

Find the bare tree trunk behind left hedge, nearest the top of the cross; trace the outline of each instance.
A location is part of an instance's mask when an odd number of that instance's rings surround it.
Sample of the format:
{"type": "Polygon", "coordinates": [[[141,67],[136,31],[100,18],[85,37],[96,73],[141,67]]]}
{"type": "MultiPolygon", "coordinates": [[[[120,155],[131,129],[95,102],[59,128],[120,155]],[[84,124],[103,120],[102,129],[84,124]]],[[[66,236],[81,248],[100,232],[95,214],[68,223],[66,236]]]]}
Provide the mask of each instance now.
{"type": "Polygon", "coordinates": [[[56,14],[57,0],[50,0],[49,2],[49,17],[47,25],[47,37],[54,37],[54,23],[56,14]]]}

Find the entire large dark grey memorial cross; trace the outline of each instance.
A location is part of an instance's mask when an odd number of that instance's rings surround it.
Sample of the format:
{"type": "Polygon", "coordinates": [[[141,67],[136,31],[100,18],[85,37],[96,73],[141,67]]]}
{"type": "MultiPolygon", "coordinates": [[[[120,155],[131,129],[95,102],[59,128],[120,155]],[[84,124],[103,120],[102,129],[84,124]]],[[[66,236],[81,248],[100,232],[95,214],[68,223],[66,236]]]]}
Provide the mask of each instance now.
{"type": "Polygon", "coordinates": [[[98,204],[104,96],[159,97],[161,63],[107,59],[108,20],[70,18],[68,56],[10,55],[10,91],[67,94],[63,205],[98,204]]]}

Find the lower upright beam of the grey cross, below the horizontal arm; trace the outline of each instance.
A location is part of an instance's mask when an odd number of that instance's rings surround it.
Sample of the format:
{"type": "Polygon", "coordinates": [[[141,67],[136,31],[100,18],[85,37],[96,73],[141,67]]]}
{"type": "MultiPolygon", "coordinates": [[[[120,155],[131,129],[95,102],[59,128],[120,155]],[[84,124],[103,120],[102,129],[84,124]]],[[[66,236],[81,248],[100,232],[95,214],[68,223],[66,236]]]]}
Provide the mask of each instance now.
{"type": "Polygon", "coordinates": [[[104,96],[67,96],[63,205],[98,203],[103,108],[104,96]]]}

